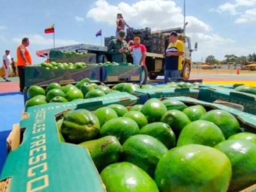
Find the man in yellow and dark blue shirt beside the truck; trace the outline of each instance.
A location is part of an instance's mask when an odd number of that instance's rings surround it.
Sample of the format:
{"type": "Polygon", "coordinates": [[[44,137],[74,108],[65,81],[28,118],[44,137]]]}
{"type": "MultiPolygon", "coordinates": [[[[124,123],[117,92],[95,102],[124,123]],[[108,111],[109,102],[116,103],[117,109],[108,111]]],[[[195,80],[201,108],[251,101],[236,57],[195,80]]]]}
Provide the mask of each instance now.
{"type": "Polygon", "coordinates": [[[182,69],[182,55],[184,54],[184,43],[178,40],[178,34],[171,32],[169,37],[169,46],[164,53],[165,67],[164,67],[164,82],[167,83],[168,78],[180,78],[180,71],[182,69]]]}

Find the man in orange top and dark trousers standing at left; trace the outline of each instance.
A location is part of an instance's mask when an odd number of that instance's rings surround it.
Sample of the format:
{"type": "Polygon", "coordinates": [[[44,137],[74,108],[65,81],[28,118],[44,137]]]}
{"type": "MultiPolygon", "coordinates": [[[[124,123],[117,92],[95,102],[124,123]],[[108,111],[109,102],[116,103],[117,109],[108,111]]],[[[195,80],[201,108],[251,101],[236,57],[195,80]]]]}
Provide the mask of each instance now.
{"type": "Polygon", "coordinates": [[[20,78],[20,92],[23,92],[25,86],[25,66],[32,65],[31,55],[26,47],[29,45],[28,38],[23,38],[21,44],[17,47],[17,68],[20,78]]]}

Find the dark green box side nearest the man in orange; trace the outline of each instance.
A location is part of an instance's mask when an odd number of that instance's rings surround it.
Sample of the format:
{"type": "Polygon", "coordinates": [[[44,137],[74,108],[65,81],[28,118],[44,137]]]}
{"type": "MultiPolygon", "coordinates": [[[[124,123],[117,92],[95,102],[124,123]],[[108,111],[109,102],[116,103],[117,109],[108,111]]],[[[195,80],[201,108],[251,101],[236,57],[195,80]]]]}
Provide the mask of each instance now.
{"type": "Polygon", "coordinates": [[[60,83],[63,80],[77,82],[86,77],[91,80],[100,80],[100,66],[87,65],[86,68],[81,69],[46,69],[41,66],[26,66],[25,74],[25,87],[60,83]]]}

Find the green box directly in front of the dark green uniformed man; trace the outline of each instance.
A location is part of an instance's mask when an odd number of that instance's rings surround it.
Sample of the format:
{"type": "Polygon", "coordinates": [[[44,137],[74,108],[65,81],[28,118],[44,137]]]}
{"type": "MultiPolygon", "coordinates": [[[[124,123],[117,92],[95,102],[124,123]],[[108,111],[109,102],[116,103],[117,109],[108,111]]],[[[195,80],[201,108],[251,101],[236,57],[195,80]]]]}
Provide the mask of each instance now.
{"type": "Polygon", "coordinates": [[[100,69],[102,82],[140,82],[142,67],[140,65],[104,65],[100,69]]]}

